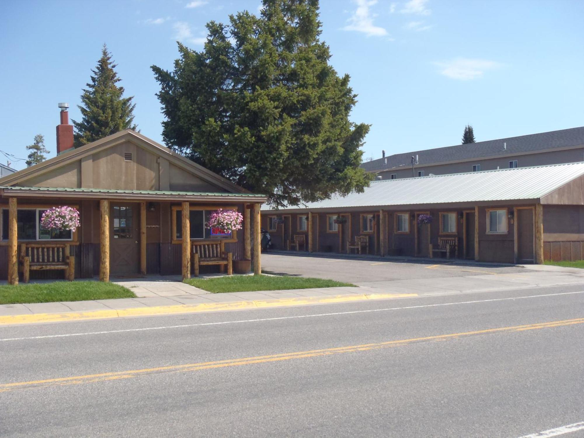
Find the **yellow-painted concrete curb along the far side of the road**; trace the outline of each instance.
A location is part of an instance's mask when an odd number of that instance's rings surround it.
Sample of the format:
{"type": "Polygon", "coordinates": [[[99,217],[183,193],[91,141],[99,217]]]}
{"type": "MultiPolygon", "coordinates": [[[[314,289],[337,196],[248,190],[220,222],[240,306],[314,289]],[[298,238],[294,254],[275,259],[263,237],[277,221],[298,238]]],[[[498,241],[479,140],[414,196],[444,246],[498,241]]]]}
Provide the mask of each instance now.
{"type": "Polygon", "coordinates": [[[157,307],[136,307],[119,310],[96,310],[88,312],[58,312],[8,315],[0,317],[0,325],[34,324],[38,322],[82,321],[87,319],[109,319],[124,317],[145,317],[153,315],[187,314],[246,310],[270,307],[288,307],[307,304],[349,303],[351,301],[387,300],[390,298],[417,297],[418,294],[351,294],[326,297],[279,298],[273,300],[232,301],[227,303],[203,303],[165,305],[157,307]]]}

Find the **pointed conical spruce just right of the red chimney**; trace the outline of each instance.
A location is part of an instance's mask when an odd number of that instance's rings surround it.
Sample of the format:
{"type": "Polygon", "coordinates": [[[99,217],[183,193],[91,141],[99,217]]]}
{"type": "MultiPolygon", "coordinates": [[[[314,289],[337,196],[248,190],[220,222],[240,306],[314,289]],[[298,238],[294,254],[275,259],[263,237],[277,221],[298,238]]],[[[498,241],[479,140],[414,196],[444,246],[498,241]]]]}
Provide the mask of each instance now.
{"type": "Polygon", "coordinates": [[[124,129],[137,128],[133,124],[134,96],[123,97],[124,88],[116,85],[121,81],[114,70],[116,67],[112,55],[103,44],[102,57],[95,70],[92,69],[91,82],[86,84],[88,88],[81,95],[83,106],[78,105],[82,120],[72,120],[76,148],[124,129]]]}

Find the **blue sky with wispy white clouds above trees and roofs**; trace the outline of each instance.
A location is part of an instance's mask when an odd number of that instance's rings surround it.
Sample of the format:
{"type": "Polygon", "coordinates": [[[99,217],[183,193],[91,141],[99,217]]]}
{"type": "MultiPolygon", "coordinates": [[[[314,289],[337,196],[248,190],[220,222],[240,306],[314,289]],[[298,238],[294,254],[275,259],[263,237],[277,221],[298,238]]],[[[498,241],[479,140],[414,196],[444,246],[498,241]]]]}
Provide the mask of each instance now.
{"type": "MultiPolygon", "coordinates": [[[[25,158],[43,134],[54,156],[57,103],[79,118],[103,43],[138,128],[162,142],[150,65],[172,68],[176,40],[200,49],[206,22],[259,5],[0,2],[0,150],[25,158]]],[[[359,95],[352,120],[372,124],[365,158],[458,144],[467,123],[478,141],[584,126],[584,1],[321,0],[320,13],[332,65],[359,95]]]]}

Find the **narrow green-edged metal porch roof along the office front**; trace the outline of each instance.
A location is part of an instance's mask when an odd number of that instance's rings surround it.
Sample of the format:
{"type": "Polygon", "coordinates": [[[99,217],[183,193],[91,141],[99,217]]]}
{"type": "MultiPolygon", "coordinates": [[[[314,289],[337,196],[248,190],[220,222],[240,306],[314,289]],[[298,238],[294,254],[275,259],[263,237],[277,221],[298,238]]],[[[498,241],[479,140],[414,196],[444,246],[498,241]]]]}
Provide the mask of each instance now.
{"type": "Polygon", "coordinates": [[[183,192],[166,190],[71,189],[68,187],[0,186],[1,196],[72,197],[77,199],[124,199],[160,201],[236,201],[264,203],[267,197],[255,193],[183,192]]]}

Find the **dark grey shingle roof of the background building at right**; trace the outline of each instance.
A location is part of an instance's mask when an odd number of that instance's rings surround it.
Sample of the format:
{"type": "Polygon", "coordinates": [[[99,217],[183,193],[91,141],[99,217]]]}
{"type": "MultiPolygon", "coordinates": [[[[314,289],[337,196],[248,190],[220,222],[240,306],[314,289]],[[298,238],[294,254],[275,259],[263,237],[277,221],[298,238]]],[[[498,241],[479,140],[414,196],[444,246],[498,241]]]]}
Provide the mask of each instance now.
{"type": "Polygon", "coordinates": [[[385,164],[384,158],[379,158],[364,162],[361,164],[361,167],[367,171],[380,171],[382,169],[397,168],[404,165],[409,166],[412,155],[416,154],[419,159],[418,165],[429,165],[460,161],[463,159],[492,157],[494,155],[515,155],[523,152],[578,145],[584,145],[584,127],[389,155],[385,157],[387,158],[387,164],[385,164]],[[507,144],[506,150],[503,150],[503,143],[507,144]]]}

